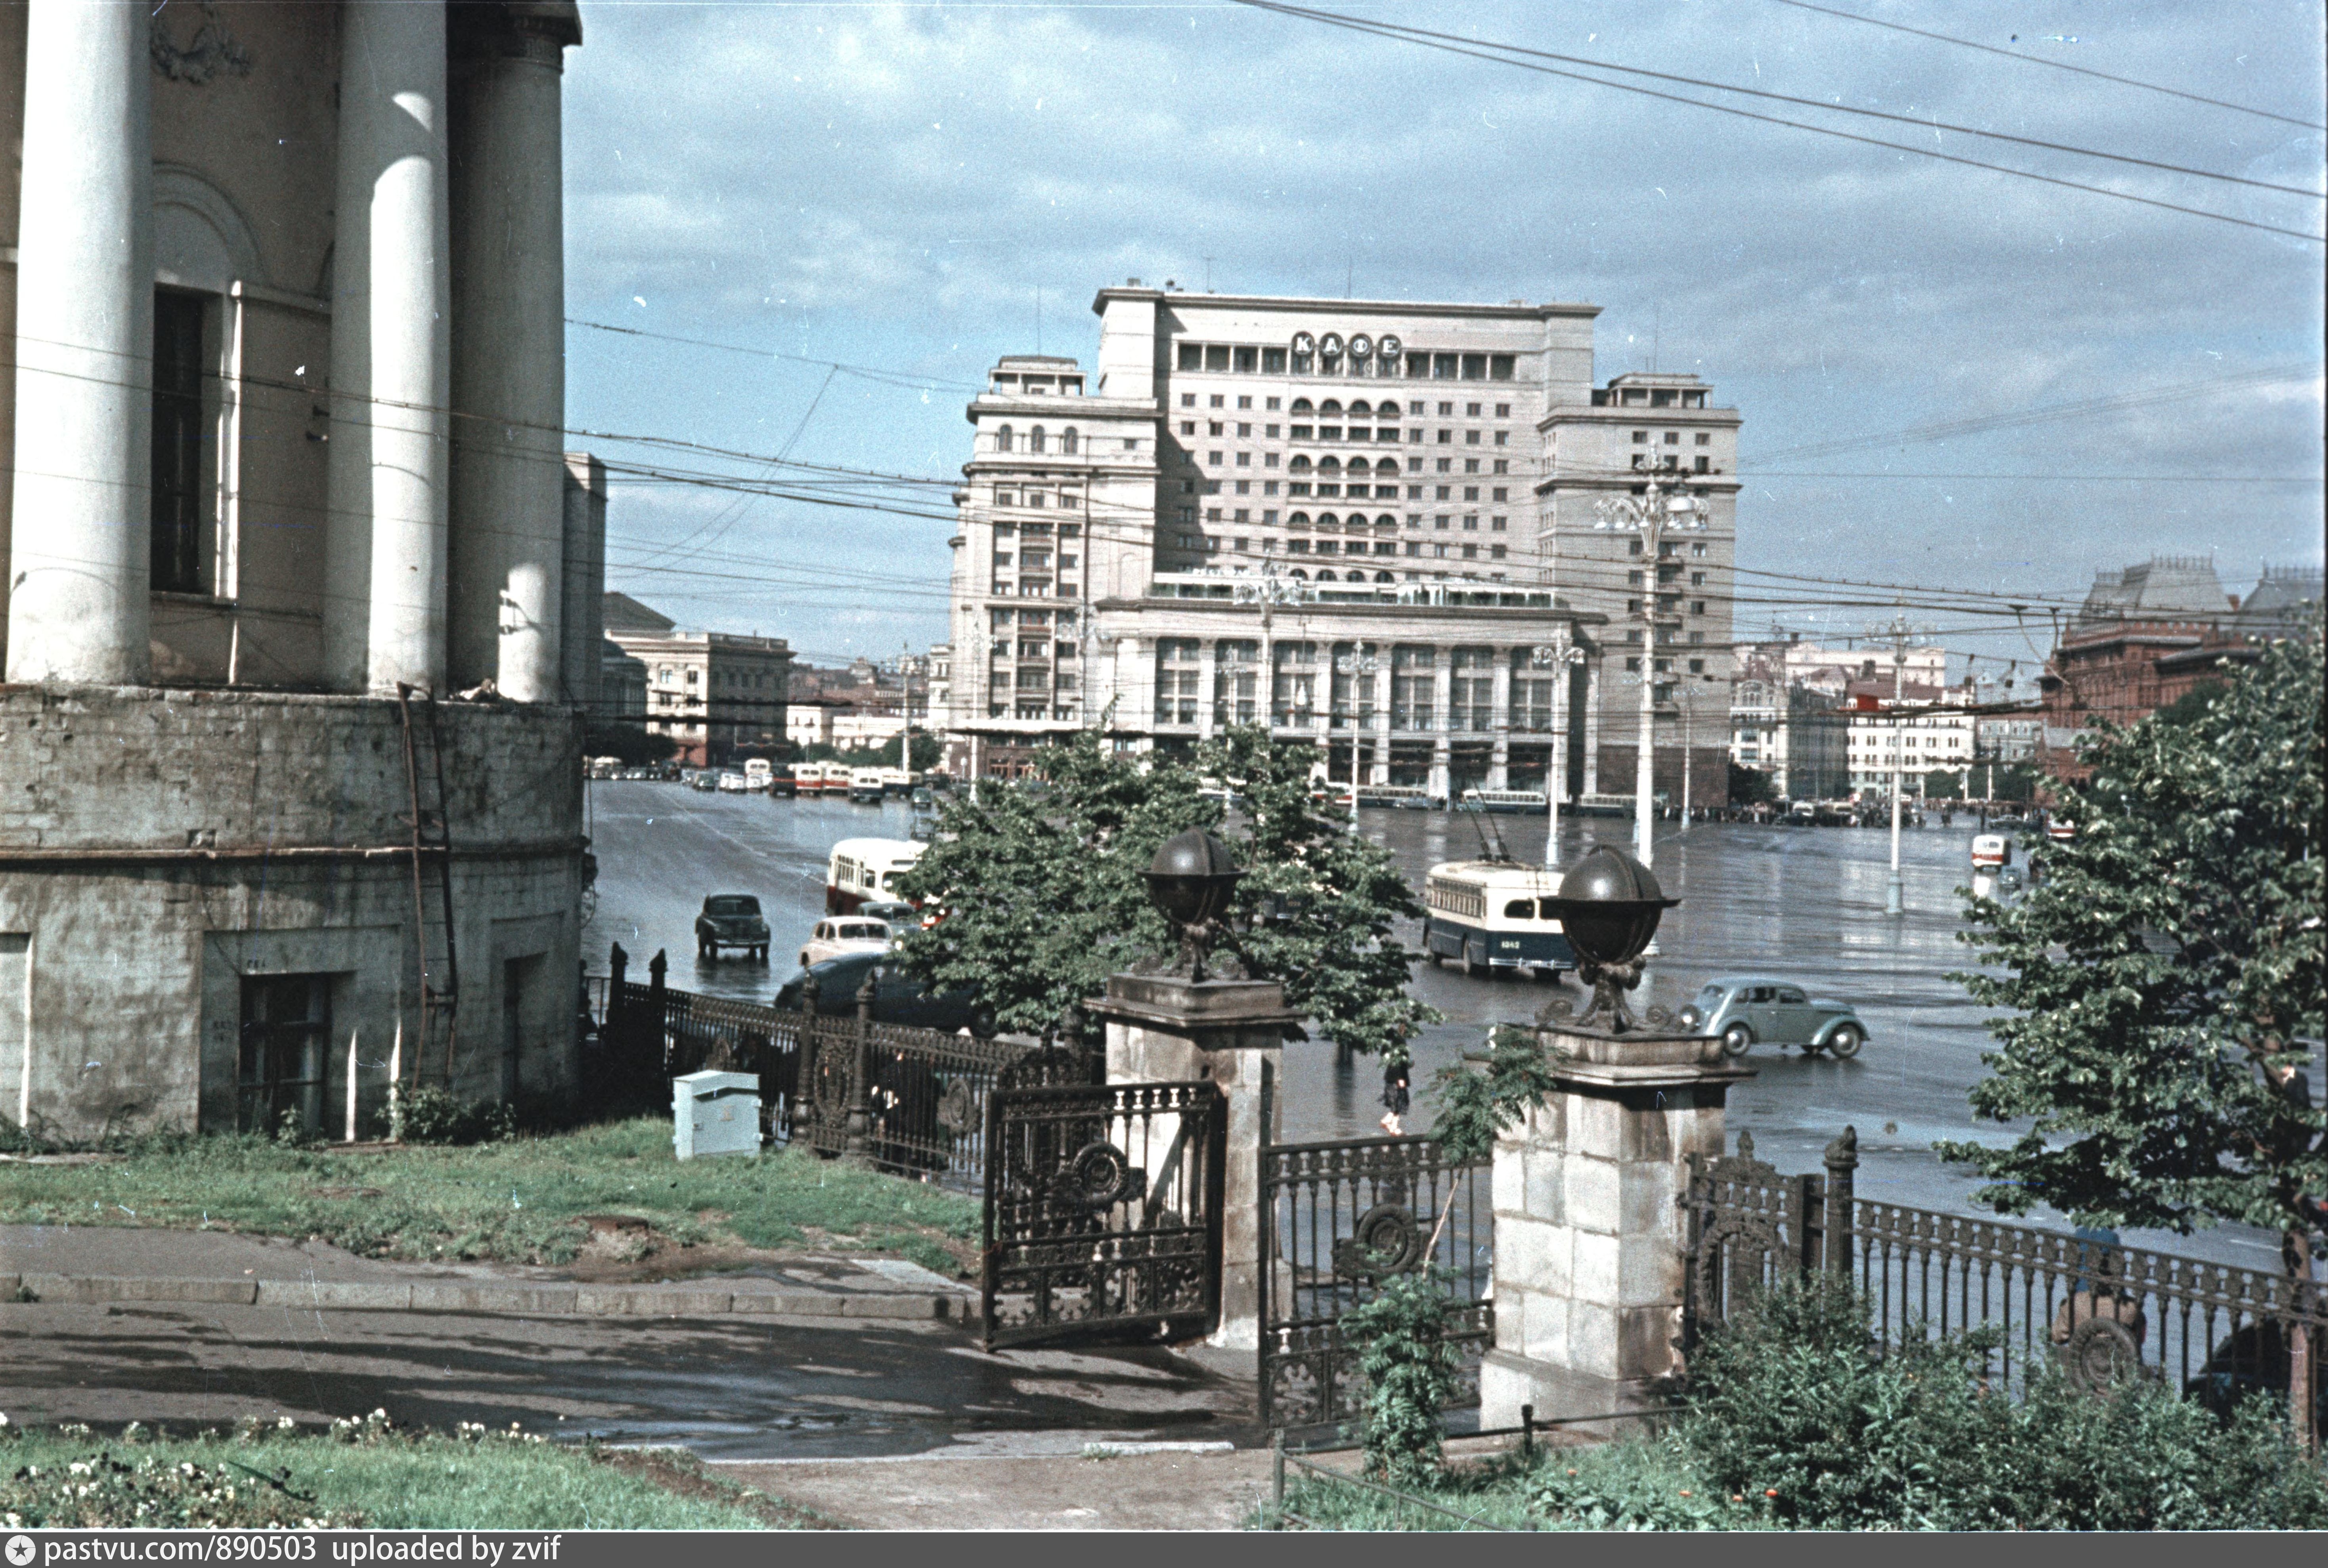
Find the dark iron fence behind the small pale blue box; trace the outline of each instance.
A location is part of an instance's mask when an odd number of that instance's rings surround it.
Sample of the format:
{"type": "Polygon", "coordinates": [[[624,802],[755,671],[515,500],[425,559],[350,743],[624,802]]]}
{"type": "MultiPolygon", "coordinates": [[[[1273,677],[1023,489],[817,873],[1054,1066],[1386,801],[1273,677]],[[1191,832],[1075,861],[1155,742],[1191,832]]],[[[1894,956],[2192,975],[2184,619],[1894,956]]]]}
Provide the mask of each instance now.
{"type": "MultiPolygon", "coordinates": [[[[659,979],[659,975],[656,975],[659,979]]],[[[764,1131],[819,1154],[945,1186],[985,1186],[987,1096],[1006,1082],[1092,1082],[1096,1061],[1022,1042],[792,1012],[624,977],[619,949],[598,1026],[601,1091],[668,1103],[684,1072],[726,1068],[761,1082],[764,1131]]]]}

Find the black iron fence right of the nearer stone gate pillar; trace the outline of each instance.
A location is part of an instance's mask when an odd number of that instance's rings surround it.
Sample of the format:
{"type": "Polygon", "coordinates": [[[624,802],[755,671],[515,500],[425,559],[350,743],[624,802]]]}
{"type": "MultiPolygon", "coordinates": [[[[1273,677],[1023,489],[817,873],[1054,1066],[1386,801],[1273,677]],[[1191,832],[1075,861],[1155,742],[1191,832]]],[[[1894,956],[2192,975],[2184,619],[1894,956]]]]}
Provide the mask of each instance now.
{"type": "MultiPolygon", "coordinates": [[[[1781,1175],[1739,1152],[1704,1161],[1690,1184],[1688,1335],[1723,1321],[1744,1293],[1788,1270],[1844,1275],[1874,1305],[1881,1342],[1909,1333],[1995,1328],[1988,1375],[2014,1387],[2046,1361],[2102,1387],[2170,1380],[2223,1410],[2249,1391],[2288,1394],[2291,1345],[2328,1352],[2321,1287],[2202,1263],[2105,1233],[2063,1235],[1853,1193],[1858,1140],[1827,1145],[1825,1173],[1781,1175]]],[[[2314,1400],[2328,1405],[2314,1387],[2314,1400]]],[[[2323,1410],[2328,1414],[2328,1410],[2323,1410]]]]}

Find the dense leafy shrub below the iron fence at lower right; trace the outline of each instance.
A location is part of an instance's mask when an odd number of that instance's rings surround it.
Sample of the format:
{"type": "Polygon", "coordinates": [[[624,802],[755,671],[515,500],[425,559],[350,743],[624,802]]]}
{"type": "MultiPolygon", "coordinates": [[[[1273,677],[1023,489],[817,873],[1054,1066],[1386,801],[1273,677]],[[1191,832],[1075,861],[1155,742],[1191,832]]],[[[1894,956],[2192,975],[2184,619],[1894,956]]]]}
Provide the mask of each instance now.
{"type": "Polygon", "coordinates": [[[2267,1400],[2230,1421],[2149,1377],[1993,1389],[1990,1331],[1879,1347],[1867,1303],[1788,1282],[1709,1335],[1676,1440],[1793,1528],[2319,1528],[2328,1480],[2267,1400]]]}

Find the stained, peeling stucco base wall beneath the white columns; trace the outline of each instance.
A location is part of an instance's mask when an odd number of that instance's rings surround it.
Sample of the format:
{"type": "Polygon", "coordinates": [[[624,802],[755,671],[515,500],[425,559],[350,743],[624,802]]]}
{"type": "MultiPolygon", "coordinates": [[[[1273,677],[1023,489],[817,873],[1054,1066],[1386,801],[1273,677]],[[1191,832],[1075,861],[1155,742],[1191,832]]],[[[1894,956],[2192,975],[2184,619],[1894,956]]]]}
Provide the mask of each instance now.
{"type": "MultiPolygon", "coordinates": [[[[452,1084],[568,1093],[580,719],[445,703],[438,735],[461,975],[452,1084]]],[[[233,1128],[244,979],[317,975],[324,1128],[342,1131],[352,1047],[370,1128],[398,1028],[407,1072],[419,1049],[407,814],[393,700],[0,689],[0,1117],[68,1138],[233,1128]]],[[[421,891],[435,921],[433,872],[421,891]]],[[[445,1082],[442,1040],[419,1070],[445,1082]]]]}

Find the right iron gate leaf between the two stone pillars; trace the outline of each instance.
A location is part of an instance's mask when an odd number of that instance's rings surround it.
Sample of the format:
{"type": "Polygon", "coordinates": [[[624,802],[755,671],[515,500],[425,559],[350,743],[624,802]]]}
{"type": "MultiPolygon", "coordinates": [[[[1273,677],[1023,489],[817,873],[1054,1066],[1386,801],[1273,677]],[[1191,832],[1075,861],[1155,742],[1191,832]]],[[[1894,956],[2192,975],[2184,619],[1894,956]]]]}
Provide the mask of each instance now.
{"type": "Polygon", "coordinates": [[[1462,1352],[1457,1407],[1478,1403],[1495,1345],[1495,1205],[1488,1161],[1432,1138],[1348,1138],[1262,1149],[1262,1426],[1357,1414],[1357,1347],[1339,1319],[1390,1275],[1439,1270],[1462,1352]]]}

